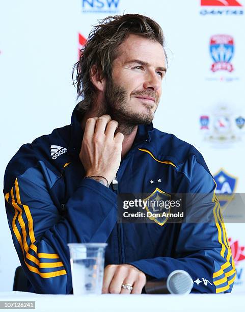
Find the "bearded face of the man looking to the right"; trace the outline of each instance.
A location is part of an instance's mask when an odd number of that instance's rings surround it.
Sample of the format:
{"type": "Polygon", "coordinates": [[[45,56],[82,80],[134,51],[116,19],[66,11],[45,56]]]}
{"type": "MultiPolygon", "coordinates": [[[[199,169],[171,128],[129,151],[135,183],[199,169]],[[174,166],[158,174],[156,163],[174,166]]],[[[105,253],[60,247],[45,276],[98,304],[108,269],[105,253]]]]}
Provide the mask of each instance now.
{"type": "Polygon", "coordinates": [[[166,73],[164,49],[158,42],[137,35],[119,46],[112,81],[106,82],[106,113],[128,126],[150,123],[166,73]]]}

